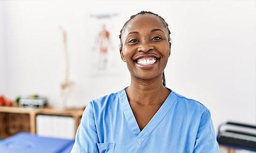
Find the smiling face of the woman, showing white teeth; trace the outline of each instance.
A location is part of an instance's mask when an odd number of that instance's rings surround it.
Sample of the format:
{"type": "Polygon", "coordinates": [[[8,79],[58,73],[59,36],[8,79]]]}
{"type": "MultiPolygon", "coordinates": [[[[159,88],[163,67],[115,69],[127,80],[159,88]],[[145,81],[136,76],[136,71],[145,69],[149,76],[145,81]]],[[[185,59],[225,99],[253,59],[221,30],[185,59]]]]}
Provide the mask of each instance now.
{"type": "Polygon", "coordinates": [[[134,77],[151,80],[162,74],[170,55],[168,35],[160,18],[151,14],[138,15],[127,23],[120,54],[134,77]]]}

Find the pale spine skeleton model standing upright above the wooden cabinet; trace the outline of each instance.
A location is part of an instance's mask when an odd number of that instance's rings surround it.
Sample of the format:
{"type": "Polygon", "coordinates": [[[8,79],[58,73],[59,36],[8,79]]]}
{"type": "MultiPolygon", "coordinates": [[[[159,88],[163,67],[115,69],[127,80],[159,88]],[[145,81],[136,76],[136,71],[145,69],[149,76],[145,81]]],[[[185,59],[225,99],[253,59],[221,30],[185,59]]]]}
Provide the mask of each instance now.
{"type": "Polygon", "coordinates": [[[65,77],[64,81],[60,84],[60,93],[62,98],[61,107],[66,107],[67,100],[70,94],[73,91],[74,83],[69,80],[70,65],[69,65],[69,54],[67,48],[67,32],[62,27],[59,27],[63,34],[63,46],[64,46],[64,55],[65,55],[65,77]]]}

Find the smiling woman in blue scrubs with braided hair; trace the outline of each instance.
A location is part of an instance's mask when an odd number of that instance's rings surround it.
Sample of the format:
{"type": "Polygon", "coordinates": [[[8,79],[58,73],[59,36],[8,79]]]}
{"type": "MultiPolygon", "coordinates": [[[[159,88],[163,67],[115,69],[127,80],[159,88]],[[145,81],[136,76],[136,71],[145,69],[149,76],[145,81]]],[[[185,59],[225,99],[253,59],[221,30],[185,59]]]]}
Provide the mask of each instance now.
{"type": "Polygon", "coordinates": [[[124,24],[120,55],[131,84],[90,101],[72,152],[219,152],[209,110],[165,87],[169,35],[152,12],[124,24]]]}

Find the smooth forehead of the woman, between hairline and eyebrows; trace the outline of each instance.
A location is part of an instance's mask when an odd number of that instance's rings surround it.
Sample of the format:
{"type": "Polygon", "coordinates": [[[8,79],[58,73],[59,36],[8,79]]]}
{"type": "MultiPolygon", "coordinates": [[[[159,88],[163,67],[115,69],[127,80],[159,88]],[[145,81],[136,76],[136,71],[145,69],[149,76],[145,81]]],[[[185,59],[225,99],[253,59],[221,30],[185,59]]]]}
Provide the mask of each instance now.
{"type": "Polygon", "coordinates": [[[150,32],[152,29],[161,29],[168,34],[168,30],[159,17],[152,14],[141,14],[127,23],[123,36],[128,35],[130,32],[150,32]]]}

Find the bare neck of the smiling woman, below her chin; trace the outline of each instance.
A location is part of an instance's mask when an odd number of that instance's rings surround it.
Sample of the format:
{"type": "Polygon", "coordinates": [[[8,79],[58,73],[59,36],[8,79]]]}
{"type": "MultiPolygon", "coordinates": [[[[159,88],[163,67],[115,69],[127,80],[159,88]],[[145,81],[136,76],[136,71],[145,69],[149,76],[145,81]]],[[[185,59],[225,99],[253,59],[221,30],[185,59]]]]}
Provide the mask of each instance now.
{"type": "Polygon", "coordinates": [[[162,105],[170,92],[163,86],[161,76],[150,81],[132,78],[125,91],[129,103],[140,106],[162,105]]]}

